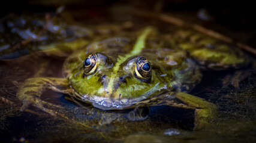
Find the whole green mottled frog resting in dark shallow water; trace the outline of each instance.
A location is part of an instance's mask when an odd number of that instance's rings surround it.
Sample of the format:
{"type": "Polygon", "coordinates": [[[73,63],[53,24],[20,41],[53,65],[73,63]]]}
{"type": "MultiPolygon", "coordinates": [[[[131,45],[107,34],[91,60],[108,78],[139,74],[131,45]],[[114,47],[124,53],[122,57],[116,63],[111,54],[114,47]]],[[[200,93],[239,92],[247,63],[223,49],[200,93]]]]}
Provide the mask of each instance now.
{"type": "Polygon", "coordinates": [[[56,116],[57,111],[47,108],[54,104],[40,99],[50,89],[100,110],[159,105],[193,109],[195,129],[201,129],[218,112],[212,102],[189,94],[201,82],[202,71],[240,69],[250,63],[240,49],[192,30],[161,33],[147,26],[80,43],[84,45],[78,44],[64,61],[63,78],[31,77],[20,85],[16,95],[23,103],[21,111],[32,106],[56,116]]]}

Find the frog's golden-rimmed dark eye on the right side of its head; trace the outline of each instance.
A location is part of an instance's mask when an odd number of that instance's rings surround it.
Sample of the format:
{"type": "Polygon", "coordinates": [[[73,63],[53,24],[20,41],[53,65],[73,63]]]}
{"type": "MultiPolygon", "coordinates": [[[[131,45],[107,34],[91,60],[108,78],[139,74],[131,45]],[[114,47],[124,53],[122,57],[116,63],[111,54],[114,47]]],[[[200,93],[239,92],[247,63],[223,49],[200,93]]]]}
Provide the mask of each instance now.
{"type": "Polygon", "coordinates": [[[150,82],[151,76],[151,64],[146,58],[140,57],[136,62],[135,75],[139,79],[143,79],[144,82],[150,82]],[[146,79],[146,80],[145,80],[146,79]]]}

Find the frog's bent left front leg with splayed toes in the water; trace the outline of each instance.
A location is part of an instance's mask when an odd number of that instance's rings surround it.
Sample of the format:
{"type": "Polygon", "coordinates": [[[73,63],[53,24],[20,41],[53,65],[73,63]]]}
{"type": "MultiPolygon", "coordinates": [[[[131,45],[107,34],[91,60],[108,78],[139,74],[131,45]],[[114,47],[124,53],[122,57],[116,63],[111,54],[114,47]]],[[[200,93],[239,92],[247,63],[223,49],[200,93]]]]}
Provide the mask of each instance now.
{"type": "Polygon", "coordinates": [[[40,99],[44,89],[52,89],[56,92],[70,94],[72,92],[67,79],[55,77],[34,77],[26,79],[17,91],[17,98],[23,102],[21,111],[26,110],[29,105],[40,108],[47,113],[56,116],[56,112],[44,107],[44,105],[56,106],[40,99]]]}

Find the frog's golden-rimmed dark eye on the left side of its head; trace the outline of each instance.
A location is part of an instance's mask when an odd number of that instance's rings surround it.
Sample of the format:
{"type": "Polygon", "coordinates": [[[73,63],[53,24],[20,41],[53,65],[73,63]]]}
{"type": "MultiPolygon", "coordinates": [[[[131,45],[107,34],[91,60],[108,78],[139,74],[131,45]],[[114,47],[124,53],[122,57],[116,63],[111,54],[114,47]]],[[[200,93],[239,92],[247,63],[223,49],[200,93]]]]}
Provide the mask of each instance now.
{"type": "Polygon", "coordinates": [[[83,61],[83,70],[85,75],[93,74],[97,69],[97,54],[89,55],[83,61]]]}

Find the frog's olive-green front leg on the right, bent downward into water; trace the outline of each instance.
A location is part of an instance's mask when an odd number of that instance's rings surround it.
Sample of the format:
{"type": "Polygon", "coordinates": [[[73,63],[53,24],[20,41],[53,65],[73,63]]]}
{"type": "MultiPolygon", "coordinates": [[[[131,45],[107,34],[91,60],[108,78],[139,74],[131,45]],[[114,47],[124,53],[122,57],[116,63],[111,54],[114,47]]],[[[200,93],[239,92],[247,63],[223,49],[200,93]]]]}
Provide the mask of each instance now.
{"type": "Polygon", "coordinates": [[[217,107],[203,98],[195,97],[184,92],[177,92],[175,97],[183,104],[195,108],[195,128],[201,129],[209,125],[210,121],[216,117],[217,107]]]}

